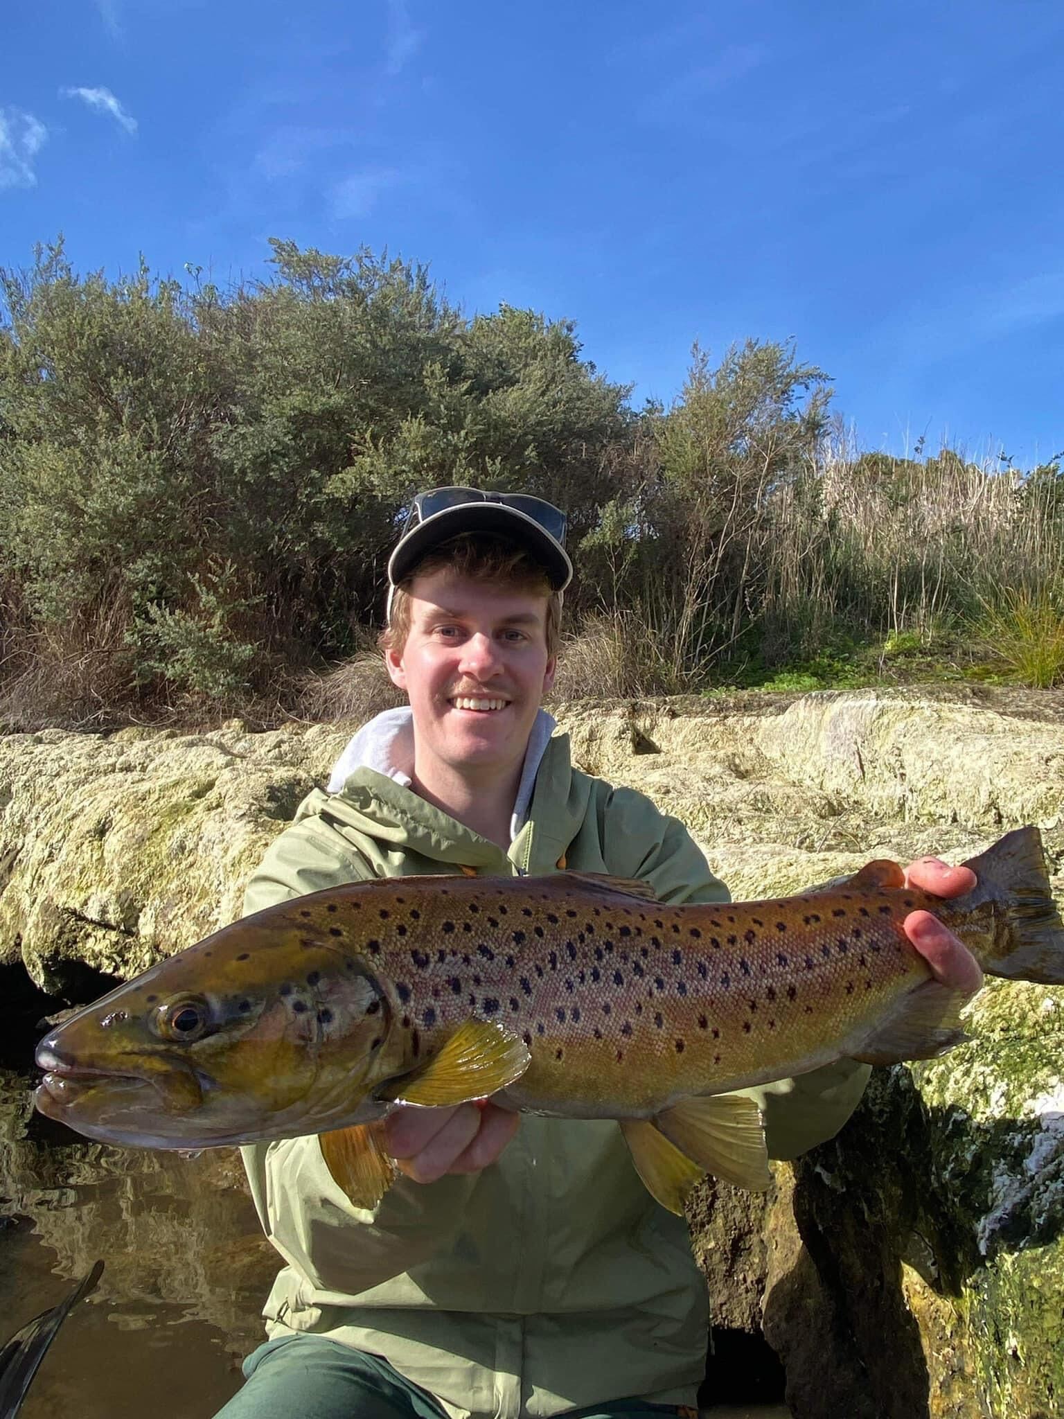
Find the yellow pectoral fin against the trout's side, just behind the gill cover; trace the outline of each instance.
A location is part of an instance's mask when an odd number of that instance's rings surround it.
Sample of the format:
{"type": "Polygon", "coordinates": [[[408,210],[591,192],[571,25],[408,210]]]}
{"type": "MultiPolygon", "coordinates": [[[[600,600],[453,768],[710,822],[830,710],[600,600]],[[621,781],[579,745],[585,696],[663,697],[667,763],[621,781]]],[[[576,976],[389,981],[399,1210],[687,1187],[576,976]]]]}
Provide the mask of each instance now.
{"type": "Polygon", "coordinates": [[[438,1054],[377,1090],[377,1098],[426,1108],[487,1098],[521,1078],[531,1059],[525,1042],[511,1030],[488,1020],[465,1020],[438,1054]]]}

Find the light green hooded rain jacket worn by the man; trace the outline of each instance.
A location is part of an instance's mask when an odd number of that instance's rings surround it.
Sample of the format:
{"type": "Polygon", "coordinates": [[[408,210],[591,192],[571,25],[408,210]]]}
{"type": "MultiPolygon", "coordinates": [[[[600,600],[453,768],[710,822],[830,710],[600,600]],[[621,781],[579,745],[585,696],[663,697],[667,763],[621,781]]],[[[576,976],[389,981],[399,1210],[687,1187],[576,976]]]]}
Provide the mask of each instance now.
{"type": "MultiPolygon", "coordinates": [[[[367,877],[553,873],[643,878],[663,901],[726,901],[684,826],[641,793],[573,769],[556,735],[529,820],[504,853],[410,789],[358,769],[311,793],[265,854],[245,912],[367,877]]],[[[750,1090],[769,1151],[830,1138],[868,1070],[850,1061],[750,1090]]],[[[404,1178],[352,1206],[314,1137],[243,1149],[258,1215],[285,1260],[271,1337],[314,1331],[386,1357],[455,1419],[523,1419],[638,1396],[694,1405],[708,1305],[687,1226],[637,1176],[616,1122],[525,1115],[474,1176],[404,1178]]]]}

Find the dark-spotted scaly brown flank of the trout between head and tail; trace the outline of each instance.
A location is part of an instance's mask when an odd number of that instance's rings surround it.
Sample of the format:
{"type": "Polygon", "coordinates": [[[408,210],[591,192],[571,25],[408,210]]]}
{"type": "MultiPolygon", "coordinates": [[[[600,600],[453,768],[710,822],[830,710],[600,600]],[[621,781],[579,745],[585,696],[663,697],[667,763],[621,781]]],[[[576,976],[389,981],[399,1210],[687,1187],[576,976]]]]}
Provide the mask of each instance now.
{"type": "Polygon", "coordinates": [[[411,1064],[470,1015],[497,1020],[532,1053],[508,1098],[573,1117],[654,1112],[665,1083],[680,1097],[814,1067],[834,1057],[826,1027],[853,1034],[928,975],[901,928],[932,901],[918,891],[680,908],[562,877],[346,891],[335,939],[392,983],[411,1064]]]}

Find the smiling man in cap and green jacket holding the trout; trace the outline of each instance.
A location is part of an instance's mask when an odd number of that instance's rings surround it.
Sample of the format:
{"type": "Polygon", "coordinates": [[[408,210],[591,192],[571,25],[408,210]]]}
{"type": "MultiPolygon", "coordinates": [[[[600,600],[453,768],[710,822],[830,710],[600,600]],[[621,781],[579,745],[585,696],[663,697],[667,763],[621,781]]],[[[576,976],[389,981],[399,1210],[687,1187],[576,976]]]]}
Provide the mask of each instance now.
{"type": "MultiPolygon", "coordinates": [[[[725,901],[681,823],[573,769],[541,708],[572,576],[565,518],[535,498],[437,488],[389,563],[384,656],[409,710],[355,736],[272,844],[245,910],[375,876],[560,868],[641,878],[664,901],[725,901]]],[[[941,895],[966,868],[914,864],[941,895]]],[[[926,912],[907,931],[932,969],[979,968],[926,912]]],[[[752,1093],[769,1152],[830,1138],[868,1070],[850,1060],[752,1093]]],[[[224,1419],[660,1415],[694,1405],[705,1286],[682,1219],[643,1186],[610,1121],[482,1108],[389,1120],[406,1174],[352,1206],[315,1138],[244,1149],[285,1259],[270,1341],[224,1419]]]]}

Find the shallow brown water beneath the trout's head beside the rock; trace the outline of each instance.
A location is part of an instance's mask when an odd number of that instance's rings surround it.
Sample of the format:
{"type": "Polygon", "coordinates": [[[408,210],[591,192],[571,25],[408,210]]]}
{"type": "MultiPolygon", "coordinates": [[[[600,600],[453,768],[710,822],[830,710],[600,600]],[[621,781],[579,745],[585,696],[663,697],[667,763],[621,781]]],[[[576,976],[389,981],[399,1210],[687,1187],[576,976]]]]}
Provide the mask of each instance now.
{"type": "MultiPolygon", "coordinates": [[[[0,1344],[105,1263],[20,1419],[210,1419],[240,1388],[278,1266],[243,1176],[230,1149],[88,1142],[34,1114],[27,1077],[0,1067],[0,1344]]],[[[705,1419],[789,1416],[726,1405],[705,1419]]]]}

